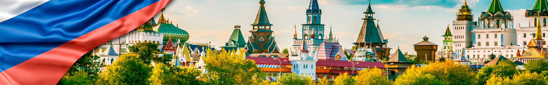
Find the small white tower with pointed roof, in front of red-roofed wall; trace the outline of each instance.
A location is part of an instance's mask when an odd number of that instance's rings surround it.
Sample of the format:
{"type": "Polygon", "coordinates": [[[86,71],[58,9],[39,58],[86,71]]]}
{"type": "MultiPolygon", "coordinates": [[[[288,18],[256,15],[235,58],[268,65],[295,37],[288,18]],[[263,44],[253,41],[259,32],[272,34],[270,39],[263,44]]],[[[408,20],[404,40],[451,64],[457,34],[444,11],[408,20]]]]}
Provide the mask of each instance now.
{"type": "Polygon", "coordinates": [[[311,77],[316,77],[316,62],[318,62],[318,57],[316,54],[309,52],[306,46],[306,41],[302,41],[300,51],[297,55],[292,55],[289,57],[289,61],[293,64],[292,72],[299,75],[309,75],[311,77]]]}

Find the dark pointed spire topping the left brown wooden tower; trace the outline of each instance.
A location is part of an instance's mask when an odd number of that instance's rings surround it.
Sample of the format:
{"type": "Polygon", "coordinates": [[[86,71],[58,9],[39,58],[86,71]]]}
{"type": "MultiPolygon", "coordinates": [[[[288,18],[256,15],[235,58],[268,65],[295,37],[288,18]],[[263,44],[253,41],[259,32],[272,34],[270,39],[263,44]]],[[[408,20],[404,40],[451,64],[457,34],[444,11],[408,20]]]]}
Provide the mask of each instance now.
{"type": "Polygon", "coordinates": [[[257,17],[255,17],[255,23],[253,23],[252,25],[272,26],[272,24],[270,24],[269,17],[266,14],[265,3],[266,2],[264,0],[259,1],[259,4],[261,4],[261,6],[259,7],[259,13],[257,13],[257,17]]]}

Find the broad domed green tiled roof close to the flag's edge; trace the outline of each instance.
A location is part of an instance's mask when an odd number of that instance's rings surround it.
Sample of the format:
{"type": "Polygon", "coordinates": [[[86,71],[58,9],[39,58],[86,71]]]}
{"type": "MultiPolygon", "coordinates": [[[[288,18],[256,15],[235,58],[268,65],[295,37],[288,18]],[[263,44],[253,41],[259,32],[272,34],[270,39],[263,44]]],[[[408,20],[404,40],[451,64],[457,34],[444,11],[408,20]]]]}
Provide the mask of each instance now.
{"type": "Polygon", "coordinates": [[[189,33],[185,30],[175,27],[172,23],[159,23],[158,26],[153,27],[154,31],[164,33],[164,40],[168,41],[169,38],[173,40],[180,39],[181,42],[189,40],[189,33]]]}

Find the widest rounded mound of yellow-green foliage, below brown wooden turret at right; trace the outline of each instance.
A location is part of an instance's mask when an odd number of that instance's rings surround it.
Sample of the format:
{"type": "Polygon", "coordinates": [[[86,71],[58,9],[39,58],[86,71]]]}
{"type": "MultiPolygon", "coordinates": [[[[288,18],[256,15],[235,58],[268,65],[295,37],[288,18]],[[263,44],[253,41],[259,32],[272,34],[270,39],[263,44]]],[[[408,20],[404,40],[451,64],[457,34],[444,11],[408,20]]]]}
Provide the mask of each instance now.
{"type": "Polygon", "coordinates": [[[421,82],[409,84],[476,84],[476,74],[469,71],[469,68],[467,65],[455,63],[453,60],[431,62],[421,68],[412,67],[407,69],[403,75],[396,79],[395,84],[407,84],[408,82],[421,82]],[[426,81],[431,78],[434,78],[434,80],[426,81]]]}

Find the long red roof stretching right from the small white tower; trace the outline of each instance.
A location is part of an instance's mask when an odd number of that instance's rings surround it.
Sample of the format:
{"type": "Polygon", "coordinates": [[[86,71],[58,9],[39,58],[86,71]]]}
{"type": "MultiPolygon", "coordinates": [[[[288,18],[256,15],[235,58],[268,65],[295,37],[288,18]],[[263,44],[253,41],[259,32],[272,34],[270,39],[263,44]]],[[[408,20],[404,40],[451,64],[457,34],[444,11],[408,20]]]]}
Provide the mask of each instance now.
{"type": "MultiPolygon", "coordinates": [[[[355,64],[354,67],[356,68],[373,68],[376,66],[376,68],[384,68],[384,64],[380,62],[361,62],[361,61],[352,61],[355,64]]],[[[316,62],[317,66],[346,66],[346,67],[352,67],[352,63],[348,62],[346,60],[325,60],[325,59],[319,59],[318,62],[316,62]]]]}

